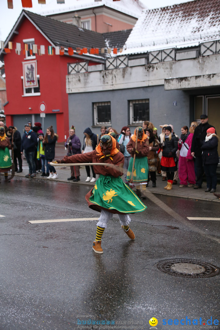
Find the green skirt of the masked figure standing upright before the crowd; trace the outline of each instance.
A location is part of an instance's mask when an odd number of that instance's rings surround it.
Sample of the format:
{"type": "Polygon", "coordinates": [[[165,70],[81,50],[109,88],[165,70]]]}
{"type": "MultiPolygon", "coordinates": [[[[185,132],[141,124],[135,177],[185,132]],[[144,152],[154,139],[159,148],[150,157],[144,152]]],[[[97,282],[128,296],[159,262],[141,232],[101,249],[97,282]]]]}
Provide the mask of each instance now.
{"type": "MultiPolygon", "coordinates": [[[[127,181],[131,180],[132,167],[134,158],[132,157],[128,166],[127,181]]],[[[148,180],[148,161],[147,157],[135,158],[135,166],[133,173],[133,182],[147,182],[148,180]]]]}

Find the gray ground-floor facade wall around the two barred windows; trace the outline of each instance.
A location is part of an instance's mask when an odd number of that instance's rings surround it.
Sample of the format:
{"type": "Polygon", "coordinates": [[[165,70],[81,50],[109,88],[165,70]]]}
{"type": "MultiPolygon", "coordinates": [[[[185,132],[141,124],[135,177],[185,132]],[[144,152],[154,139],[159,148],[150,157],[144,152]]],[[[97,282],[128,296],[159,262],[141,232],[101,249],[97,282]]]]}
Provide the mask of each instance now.
{"type": "MultiPolygon", "coordinates": [[[[159,125],[173,124],[174,131],[179,135],[181,127],[189,125],[190,98],[182,90],[164,90],[164,85],[129,88],[109,91],[69,94],[69,123],[76,127],[76,135],[83,141],[83,131],[90,127],[92,132],[100,134],[100,127],[94,126],[93,102],[111,103],[111,125],[120,133],[121,128],[129,124],[129,101],[149,99],[150,121],[159,125]],[[173,105],[176,102],[176,105],[173,105]]],[[[141,125],[141,124],[139,124],[141,125]]],[[[133,133],[137,125],[130,125],[133,133]]]]}

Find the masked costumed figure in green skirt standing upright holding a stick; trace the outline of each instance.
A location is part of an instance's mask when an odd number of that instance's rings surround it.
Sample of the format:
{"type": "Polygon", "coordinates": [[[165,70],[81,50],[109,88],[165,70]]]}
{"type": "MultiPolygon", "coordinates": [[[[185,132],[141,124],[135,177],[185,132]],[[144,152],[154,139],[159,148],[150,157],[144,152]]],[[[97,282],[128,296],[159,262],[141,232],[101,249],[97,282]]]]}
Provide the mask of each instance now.
{"type": "Polygon", "coordinates": [[[133,170],[133,183],[136,185],[136,193],[141,196],[140,184],[142,185],[142,191],[146,190],[148,182],[148,161],[147,155],[149,153],[149,141],[147,135],[144,133],[143,128],[137,127],[134,135],[130,138],[129,143],[126,146],[127,151],[131,154],[129,162],[127,181],[131,182],[133,162],[135,158],[134,170],[133,170]],[[138,134],[138,139],[137,138],[138,134]],[[136,148],[137,140],[137,148],[136,148]],[[134,157],[135,156],[135,157],[134,157]]]}

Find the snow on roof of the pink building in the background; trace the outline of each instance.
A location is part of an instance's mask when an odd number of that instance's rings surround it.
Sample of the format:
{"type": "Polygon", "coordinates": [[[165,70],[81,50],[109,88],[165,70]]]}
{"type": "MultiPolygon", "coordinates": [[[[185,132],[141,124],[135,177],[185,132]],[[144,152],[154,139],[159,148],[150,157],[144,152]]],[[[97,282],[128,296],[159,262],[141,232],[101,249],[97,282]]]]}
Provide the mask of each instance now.
{"type": "MultiPolygon", "coordinates": [[[[93,1],[90,2],[88,0],[80,0],[79,2],[72,1],[71,3],[75,3],[75,6],[66,7],[64,8],[63,5],[59,9],[50,10],[47,12],[39,12],[40,15],[55,15],[55,14],[61,14],[61,13],[67,13],[72,11],[78,11],[82,9],[88,9],[88,8],[95,8],[100,6],[106,6],[110,7],[114,10],[120,11],[124,14],[133,16],[133,17],[140,17],[142,10],[146,9],[146,6],[141,3],[140,0],[120,0],[117,1],[117,4],[113,2],[112,0],[101,0],[101,1],[93,1]]],[[[57,8],[57,7],[56,7],[57,8]]]]}

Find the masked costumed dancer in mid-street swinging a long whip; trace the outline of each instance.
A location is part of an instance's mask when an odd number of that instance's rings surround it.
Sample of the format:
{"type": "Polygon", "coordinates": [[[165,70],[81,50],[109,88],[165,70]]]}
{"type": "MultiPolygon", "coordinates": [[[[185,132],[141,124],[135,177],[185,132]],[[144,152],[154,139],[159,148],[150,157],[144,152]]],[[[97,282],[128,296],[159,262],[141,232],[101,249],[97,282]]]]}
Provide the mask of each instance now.
{"type": "Polygon", "coordinates": [[[101,248],[102,235],[113,214],[118,214],[122,229],[130,239],[134,240],[135,235],[129,228],[131,219],[128,214],[144,211],[146,206],[121,179],[123,171],[120,171],[120,167],[123,167],[124,156],[116,149],[116,141],[112,136],[103,135],[99,145],[91,152],[70,157],[65,156],[64,159],[54,163],[84,162],[110,163],[119,166],[116,170],[110,166],[94,165],[94,171],[96,174],[100,174],[100,177],[94,188],[85,196],[88,206],[101,212],[97,223],[96,239],[92,248],[96,253],[103,253],[101,248]]]}

